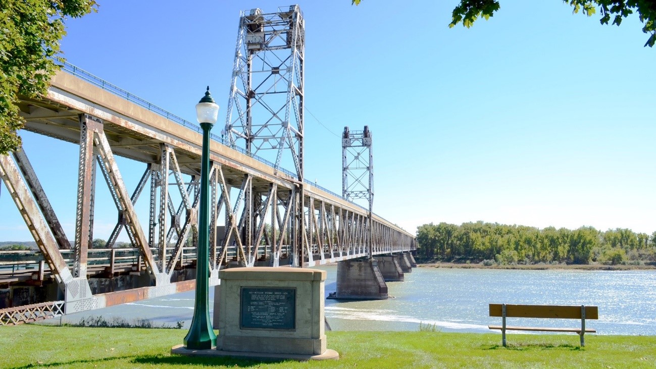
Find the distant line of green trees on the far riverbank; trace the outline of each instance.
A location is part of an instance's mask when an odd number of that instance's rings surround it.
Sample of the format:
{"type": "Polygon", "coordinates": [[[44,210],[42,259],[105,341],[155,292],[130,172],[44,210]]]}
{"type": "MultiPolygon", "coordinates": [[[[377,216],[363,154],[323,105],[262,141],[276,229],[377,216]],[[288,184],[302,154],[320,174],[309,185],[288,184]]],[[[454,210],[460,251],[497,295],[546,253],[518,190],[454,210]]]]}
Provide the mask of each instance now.
{"type": "Polygon", "coordinates": [[[499,223],[440,223],[417,227],[420,262],[483,263],[654,263],[656,232],[635,233],[630,229],[598,231],[538,229],[499,223]]]}

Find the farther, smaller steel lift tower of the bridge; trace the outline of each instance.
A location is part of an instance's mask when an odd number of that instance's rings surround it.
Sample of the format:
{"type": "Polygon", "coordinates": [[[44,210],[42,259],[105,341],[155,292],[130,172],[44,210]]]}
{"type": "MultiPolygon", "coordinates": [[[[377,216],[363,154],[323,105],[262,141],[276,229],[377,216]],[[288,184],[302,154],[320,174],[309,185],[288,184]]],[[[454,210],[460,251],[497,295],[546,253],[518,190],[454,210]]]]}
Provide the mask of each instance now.
{"type": "Polygon", "coordinates": [[[371,257],[373,214],[373,153],[371,130],[349,130],[342,134],[342,197],[348,201],[364,199],[369,205],[369,227],[367,246],[371,257]]]}

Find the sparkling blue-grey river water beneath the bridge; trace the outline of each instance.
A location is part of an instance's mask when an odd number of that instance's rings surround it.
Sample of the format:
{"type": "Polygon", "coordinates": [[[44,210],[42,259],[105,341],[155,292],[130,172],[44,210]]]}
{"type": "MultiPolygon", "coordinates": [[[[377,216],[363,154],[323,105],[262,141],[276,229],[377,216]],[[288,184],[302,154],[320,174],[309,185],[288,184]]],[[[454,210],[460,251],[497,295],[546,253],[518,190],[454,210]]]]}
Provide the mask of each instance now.
{"type": "MultiPolygon", "coordinates": [[[[337,266],[327,271],[325,294],[335,291],[337,266]]],[[[435,324],[443,332],[489,332],[488,303],[596,305],[599,320],[586,326],[598,334],[656,336],[656,271],[500,270],[420,267],[404,282],[387,282],[389,300],[325,301],[333,330],[418,330],[435,324]]],[[[210,309],[214,296],[210,288],[210,309]]],[[[191,324],[194,292],[184,292],[67,315],[64,322],[102,315],[145,318],[157,324],[191,324]]],[[[212,314],[212,312],[210,312],[212,314]]],[[[58,322],[59,319],[52,319],[58,322]]],[[[54,323],[54,322],[53,322],[54,323]]],[[[512,325],[572,326],[575,320],[508,318],[512,325]]]]}

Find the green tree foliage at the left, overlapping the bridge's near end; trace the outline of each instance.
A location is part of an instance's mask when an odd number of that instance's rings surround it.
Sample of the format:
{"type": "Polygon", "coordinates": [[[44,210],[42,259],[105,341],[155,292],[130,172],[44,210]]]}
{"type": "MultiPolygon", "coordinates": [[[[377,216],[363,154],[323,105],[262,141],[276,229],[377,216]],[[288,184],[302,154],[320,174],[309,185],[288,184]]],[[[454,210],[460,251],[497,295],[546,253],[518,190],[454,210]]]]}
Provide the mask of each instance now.
{"type": "Polygon", "coordinates": [[[58,69],[64,20],[88,14],[94,0],[0,1],[0,155],[20,145],[19,96],[45,94],[58,69]]]}

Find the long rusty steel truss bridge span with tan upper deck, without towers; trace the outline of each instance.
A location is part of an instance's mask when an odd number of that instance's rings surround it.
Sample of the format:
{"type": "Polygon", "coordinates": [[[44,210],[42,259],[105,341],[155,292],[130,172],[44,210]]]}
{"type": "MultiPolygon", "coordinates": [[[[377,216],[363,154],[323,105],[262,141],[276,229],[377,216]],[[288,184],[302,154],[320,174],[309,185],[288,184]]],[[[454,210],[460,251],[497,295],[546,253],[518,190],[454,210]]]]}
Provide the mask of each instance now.
{"type": "MultiPolygon", "coordinates": [[[[0,175],[39,246],[36,253],[3,252],[0,286],[56,286],[54,292],[52,288],[41,292],[50,301],[0,309],[0,322],[40,320],[192,290],[197,240],[191,230],[197,225],[199,203],[200,128],[70,64],[54,76],[47,96],[22,100],[21,110],[26,130],[80,146],[75,241],[70,244],[64,234],[24,151],[0,156],[0,175]],[[145,163],[132,196],[113,155],[145,163]],[[118,209],[119,222],[108,247],[125,229],[134,248],[89,248],[95,161],[118,209]],[[191,180],[185,182],[183,175],[191,180]],[[133,204],[148,187],[149,178],[150,218],[140,222],[133,204]],[[180,191],[177,207],[169,195],[174,189],[180,191]],[[148,235],[141,224],[146,224],[148,235]],[[171,244],[173,235],[178,241],[171,244]],[[141,277],[143,285],[144,275],[146,286],[137,288],[119,290],[126,287],[115,281],[104,287],[95,283],[93,291],[90,286],[95,279],[112,281],[121,276],[141,277]],[[103,288],[110,292],[98,293],[103,288]]],[[[241,147],[226,146],[216,135],[210,150],[211,204],[215,205],[210,222],[211,285],[218,284],[218,270],[224,267],[312,267],[416,248],[415,237],[393,223],[375,214],[369,220],[362,206],[307,180],[301,182],[287,170],[276,170],[241,147]]]]}

